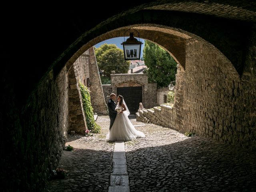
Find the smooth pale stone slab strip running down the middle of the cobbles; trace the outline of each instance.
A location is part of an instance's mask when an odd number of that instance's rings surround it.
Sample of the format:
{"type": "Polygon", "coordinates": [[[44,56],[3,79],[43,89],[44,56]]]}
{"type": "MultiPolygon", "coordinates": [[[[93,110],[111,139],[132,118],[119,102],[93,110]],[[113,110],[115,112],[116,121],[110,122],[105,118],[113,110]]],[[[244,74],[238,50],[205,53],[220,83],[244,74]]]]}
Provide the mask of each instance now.
{"type": "Polygon", "coordinates": [[[113,153],[113,169],[110,174],[108,192],[130,192],[123,141],[115,142],[113,153]]]}

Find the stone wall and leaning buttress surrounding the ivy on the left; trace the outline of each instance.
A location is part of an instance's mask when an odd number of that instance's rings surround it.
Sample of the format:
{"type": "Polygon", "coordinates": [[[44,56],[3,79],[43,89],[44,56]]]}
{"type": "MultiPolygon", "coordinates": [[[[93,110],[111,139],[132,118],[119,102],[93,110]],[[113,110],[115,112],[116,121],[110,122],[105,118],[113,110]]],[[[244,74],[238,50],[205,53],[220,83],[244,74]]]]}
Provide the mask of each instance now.
{"type": "Polygon", "coordinates": [[[69,77],[69,131],[84,134],[86,118],[82,105],[82,96],[78,82],[88,86],[94,112],[107,114],[106,103],[103,96],[98,66],[94,50],[90,48],[84,52],[70,67],[69,77]]]}

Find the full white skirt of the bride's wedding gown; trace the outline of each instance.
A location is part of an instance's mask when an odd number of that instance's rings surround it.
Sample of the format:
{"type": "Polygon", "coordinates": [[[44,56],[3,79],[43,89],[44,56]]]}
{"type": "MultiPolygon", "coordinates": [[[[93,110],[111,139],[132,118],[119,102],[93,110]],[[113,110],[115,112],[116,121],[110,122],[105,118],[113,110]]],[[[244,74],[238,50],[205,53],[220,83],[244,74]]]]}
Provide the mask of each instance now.
{"type": "Polygon", "coordinates": [[[127,114],[123,112],[116,115],[114,124],[106,136],[106,140],[130,141],[139,137],[145,137],[145,134],[136,130],[127,114]]]}

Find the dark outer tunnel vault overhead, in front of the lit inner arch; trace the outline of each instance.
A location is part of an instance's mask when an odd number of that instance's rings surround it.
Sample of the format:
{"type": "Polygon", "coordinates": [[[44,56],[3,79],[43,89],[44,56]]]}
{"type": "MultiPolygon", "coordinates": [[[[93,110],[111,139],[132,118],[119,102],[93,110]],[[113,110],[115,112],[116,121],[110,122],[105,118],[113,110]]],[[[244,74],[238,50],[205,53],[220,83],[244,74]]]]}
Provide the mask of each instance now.
{"type": "MultiPolygon", "coordinates": [[[[255,30],[253,27],[256,18],[256,1],[142,0],[126,6],[118,2],[120,1],[101,2],[103,8],[101,10],[97,9],[99,2],[96,1],[91,2],[90,5],[87,2],[80,4],[68,2],[55,6],[42,4],[40,9],[38,7],[31,9],[24,6],[23,2],[17,4],[19,6],[6,6],[6,11],[13,17],[2,20],[4,30],[1,34],[0,54],[8,63],[4,65],[6,70],[8,71],[8,67],[12,66],[12,75],[24,85],[19,86],[20,90],[17,88],[17,92],[24,92],[26,89],[25,92],[29,93],[51,69],[54,70],[54,76],[57,75],[70,58],[74,59],[74,56],[78,58],[82,54],[80,49],[96,37],[118,28],[138,24],[169,26],[196,34],[224,53],[240,74],[242,73],[241,58],[244,58],[243,54],[247,51],[247,43],[252,41],[246,30],[249,32],[255,30]],[[97,11],[100,12],[99,17],[96,17],[97,11]],[[211,24],[203,26],[201,22],[204,20],[204,24],[207,24],[206,18],[210,17],[215,20],[219,18],[213,28],[211,24]],[[223,22],[225,19],[230,20],[223,22]],[[252,23],[252,26],[248,26],[248,22],[252,23]],[[189,28],[182,25],[185,23],[190,25],[189,28]],[[222,33],[223,28],[228,29],[230,23],[233,28],[224,31],[222,38],[214,36],[222,33]],[[204,34],[201,33],[203,30],[205,30],[204,34]],[[208,32],[211,34],[208,35],[208,32]],[[230,48],[227,49],[227,46],[222,46],[218,44],[219,42],[226,45],[231,42],[230,48]],[[234,42],[237,42],[237,45],[233,45],[234,42]],[[26,64],[21,65],[21,60],[26,61],[26,64]]],[[[6,14],[2,12],[2,18],[5,17],[6,14]]],[[[180,60],[178,56],[175,57],[180,60]]],[[[27,95],[22,96],[24,100],[27,95]]]]}

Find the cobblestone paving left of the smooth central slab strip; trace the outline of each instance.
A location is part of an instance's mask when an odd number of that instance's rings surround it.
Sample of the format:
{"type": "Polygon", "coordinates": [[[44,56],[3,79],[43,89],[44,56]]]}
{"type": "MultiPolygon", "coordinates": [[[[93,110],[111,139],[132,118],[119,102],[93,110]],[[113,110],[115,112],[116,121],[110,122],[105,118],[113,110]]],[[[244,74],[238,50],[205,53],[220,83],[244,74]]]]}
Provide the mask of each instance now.
{"type": "Polygon", "coordinates": [[[99,116],[97,123],[102,127],[101,134],[68,135],[66,146],[69,144],[74,150],[63,151],[58,164],[68,171],[66,178],[49,181],[45,192],[108,191],[114,143],[105,140],[110,123],[108,116],[99,116]]]}

